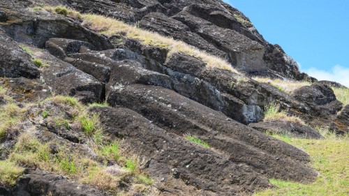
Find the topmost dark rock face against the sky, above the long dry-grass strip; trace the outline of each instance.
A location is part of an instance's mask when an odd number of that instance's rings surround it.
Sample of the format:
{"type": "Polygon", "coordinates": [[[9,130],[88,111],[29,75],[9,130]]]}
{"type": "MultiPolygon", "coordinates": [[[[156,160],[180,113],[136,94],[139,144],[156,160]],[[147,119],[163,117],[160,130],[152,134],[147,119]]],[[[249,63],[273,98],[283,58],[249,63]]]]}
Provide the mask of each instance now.
{"type": "Polygon", "coordinates": [[[220,0],[73,0],[64,3],[84,12],[108,15],[124,22],[139,22],[140,28],[221,56],[235,68],[251,75],[301,78],[297,63],[279,45],[267,43],[246,16],[220,0]],[[184,31],[186,33],[182,33],[184,31]]]}

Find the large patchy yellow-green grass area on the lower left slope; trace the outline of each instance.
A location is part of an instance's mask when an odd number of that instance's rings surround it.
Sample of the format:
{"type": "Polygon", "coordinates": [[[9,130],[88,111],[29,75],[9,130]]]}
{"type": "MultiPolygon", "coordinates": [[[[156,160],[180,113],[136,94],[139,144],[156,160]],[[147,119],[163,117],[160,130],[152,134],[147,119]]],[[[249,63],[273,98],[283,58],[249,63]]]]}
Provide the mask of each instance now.
{"type": "MultiPolygon", "coordinates": [[[[0,93],[5,95],[6,89],[1,87],[0,90],[0,93]]],[[[8,149],[8,158],[0,160],[0,186],[13,186],[24,172],[24,168],[38,168],[66,175],[70,179],[87,183],[108,193],[134,195],[149,192],[153,181],[141,171],[138,158],[121,151],[117,140],[105,137],[99,116],[89,114],[88,106],[82,105],[75,98],[55,96],[40,103],[31,103],[27,107],[38,110],[36,114],[30,115],[41,117],[47,122],[54,121],[55,126],[64,126],[69,130],[70,124],[75,124],[70,131],[85,133],[88,142],[70,145],[71,143],[63,138],[58,139],[60,137],[42,142],[37,135],[43,130],[22,130],[22,126],[15,127],[28,118],[28,112],[23,112],[26,110],[15,103],[1,105],[0,130],[4,130],[4,134],[15,130],[20,135],[15,140],[15,146],[8,149]],[[49,109],[52,107],[62,111],[54,114],[54,110],[49,109]],[[63,116],[69,119],[64,119],[63,116]],[[13,123],[10,123],[12,121],[13,123]],[[55,146],[54,152],[50,149],[51,146],[55,146]],[[85,149],[83,153],[81,149],[85,149]],[[127,185],[124,184],[126,180],[127,185]],[[122,188],[121,185],[127,188],[122,188]]]]}

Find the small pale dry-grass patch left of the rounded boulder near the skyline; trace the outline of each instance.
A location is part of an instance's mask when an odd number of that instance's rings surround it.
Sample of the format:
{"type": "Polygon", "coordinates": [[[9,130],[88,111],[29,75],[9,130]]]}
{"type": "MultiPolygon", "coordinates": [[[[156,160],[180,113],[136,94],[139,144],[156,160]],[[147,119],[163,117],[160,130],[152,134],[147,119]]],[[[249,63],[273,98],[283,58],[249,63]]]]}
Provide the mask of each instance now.
{"type": "Polygon", "coordinates": [[[272,86],[275,86],[280,91],[284,91],[285,93],[292,93],[296,89],[299,89],[302,86],[310,86],[310,82],[298,82],[298,81],[291,81],[291,80],[272,80],[267,77],[253,77],[253,80],[257,82],[267,83],[272,86]]]}

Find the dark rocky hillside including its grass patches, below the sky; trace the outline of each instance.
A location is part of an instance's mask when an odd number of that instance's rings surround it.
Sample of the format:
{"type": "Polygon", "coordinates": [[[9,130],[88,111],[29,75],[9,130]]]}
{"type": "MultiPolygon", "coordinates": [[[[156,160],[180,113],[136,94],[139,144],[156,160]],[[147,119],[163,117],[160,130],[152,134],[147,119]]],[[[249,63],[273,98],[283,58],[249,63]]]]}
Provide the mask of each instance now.
{"type": "Polygon", "coordinates": [[[0,195],[310,183],[309,154],[265,133],[346,135],[339,85],[299,73],[220,0],[1,1],[0,195]]]}

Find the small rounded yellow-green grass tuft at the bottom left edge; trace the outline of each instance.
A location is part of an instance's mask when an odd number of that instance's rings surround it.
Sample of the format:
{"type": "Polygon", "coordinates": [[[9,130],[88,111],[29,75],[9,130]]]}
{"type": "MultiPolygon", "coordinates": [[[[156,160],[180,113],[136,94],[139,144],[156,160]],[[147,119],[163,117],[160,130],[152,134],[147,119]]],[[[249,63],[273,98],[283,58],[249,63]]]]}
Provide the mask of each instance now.
{"type": "Polygon", "coordinates": [[[8,160],[0,160],[0,185],[13,186],[22,176],[24,168],[17,167],[8,160]]]}

